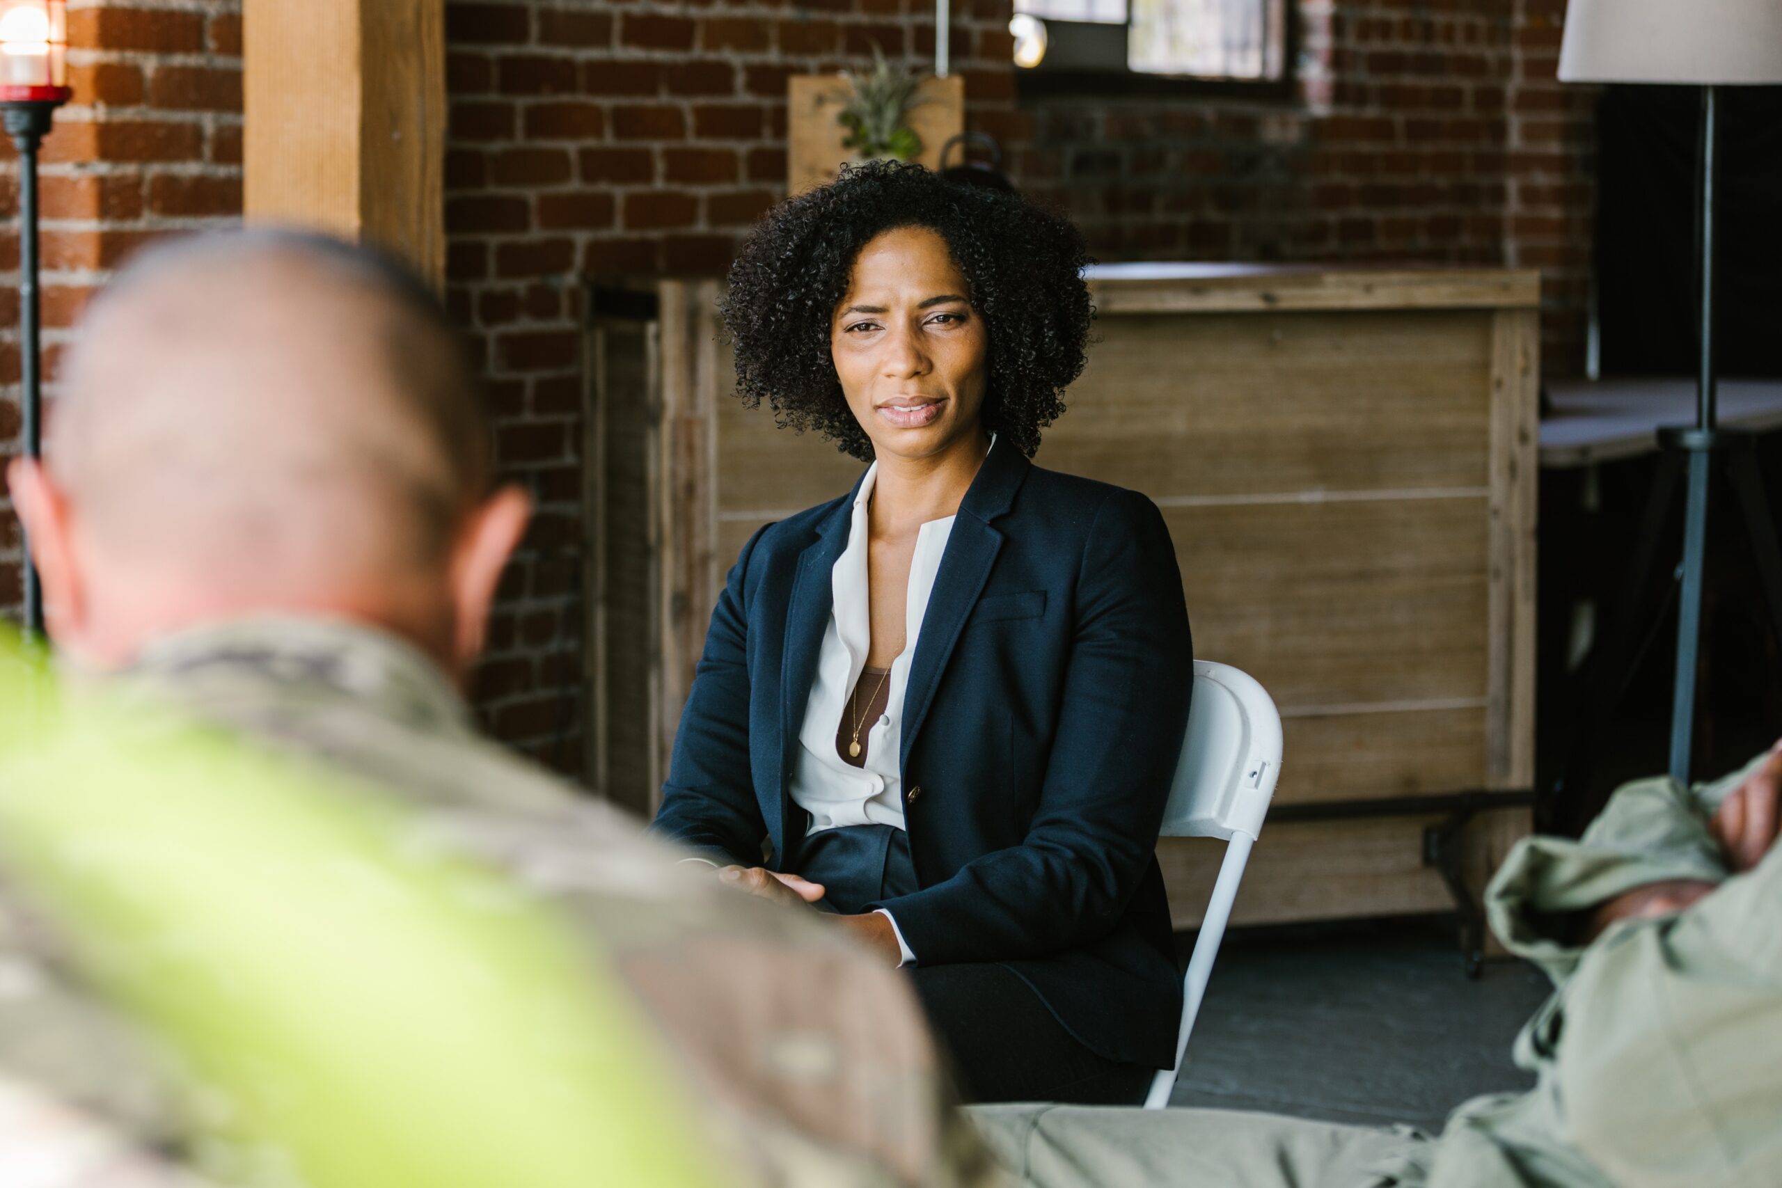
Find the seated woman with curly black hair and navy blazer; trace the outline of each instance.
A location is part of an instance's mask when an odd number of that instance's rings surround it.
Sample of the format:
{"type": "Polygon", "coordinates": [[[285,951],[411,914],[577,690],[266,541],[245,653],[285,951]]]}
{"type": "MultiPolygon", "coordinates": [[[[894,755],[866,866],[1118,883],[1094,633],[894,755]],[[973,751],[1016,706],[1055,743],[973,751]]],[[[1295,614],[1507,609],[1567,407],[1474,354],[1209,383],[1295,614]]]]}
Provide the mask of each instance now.
{"type": "Polygon", "coordinates": [[[1181,575],[1148,499],[1028,461],[1083,369],[1085,262],[920,166],[766,216],[723,301],[738,392],[871,465],[743,547],[656,818],[909,967],[978,1101],[1133,1103],[1174,1058],[1181,575]]]}

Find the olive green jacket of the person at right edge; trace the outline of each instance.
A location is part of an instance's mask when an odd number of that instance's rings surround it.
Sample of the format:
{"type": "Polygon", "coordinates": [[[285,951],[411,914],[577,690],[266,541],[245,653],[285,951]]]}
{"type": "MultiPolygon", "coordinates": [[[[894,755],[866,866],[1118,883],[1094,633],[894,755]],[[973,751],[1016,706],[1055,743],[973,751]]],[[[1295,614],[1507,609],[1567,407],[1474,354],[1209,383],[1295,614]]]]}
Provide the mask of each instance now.
{"type": "Polygon", "coordinates": [[[1707,828],[1759,762],[1629,784],[1581,841],[1529,839],[1492,880],[1493,930],[1556,985],[1516,1038],[1538,1085],[1461,1106],[1431,1188],[1782,1184],[1782,848],[1734,876],[1707,828]],[[1720,889],[1572,940],[1577,914],[1673,878],[1720,889]]]}

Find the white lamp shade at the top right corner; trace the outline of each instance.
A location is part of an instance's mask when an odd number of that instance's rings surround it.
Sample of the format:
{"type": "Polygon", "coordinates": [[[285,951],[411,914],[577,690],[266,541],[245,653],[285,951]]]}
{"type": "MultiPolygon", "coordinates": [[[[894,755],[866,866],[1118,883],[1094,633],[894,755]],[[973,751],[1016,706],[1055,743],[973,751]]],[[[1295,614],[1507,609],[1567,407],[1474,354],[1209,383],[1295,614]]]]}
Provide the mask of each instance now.
{"type": "Polygon", "coordinates": [[[1572,0],[1561,82],[1782,82],[1782,0],[1572,0]]]}

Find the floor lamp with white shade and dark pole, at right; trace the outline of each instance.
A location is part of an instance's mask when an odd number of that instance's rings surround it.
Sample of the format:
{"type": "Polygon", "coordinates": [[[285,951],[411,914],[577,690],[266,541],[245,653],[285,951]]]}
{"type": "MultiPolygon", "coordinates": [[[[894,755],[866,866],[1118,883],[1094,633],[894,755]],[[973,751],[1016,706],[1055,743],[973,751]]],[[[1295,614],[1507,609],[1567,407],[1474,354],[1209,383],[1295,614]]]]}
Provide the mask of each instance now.
{"type": "MultiPolygon", "coordinates": [[[[1716,105],[1729,85],[1782,84],[1782,2],[1778,0],[1572,0],[1559,50],[1561,82],[1639,82],[1702,87],[1696,160],[1696,273],[1700,278],[1700,372],[1695,424],[1659,431],[1664,451],[1638,549],[1650,570],[1659,563],[1652,536],[1668,518],[1673,477],[1686,476],[1684,547],[1679,566],[1677,682],[1672,695],[1670,773],[1689,778],[1695,734],[1695,671],[1702,636],[1702,579],[1707,559],[1709,477],[1725,470],[1739,499],[1770,604],[1782,634],[1782,559],[1768,497],[1748,435],[1723,429],[1714,408],[1714,187],[1716,105]]],[[[1645,590],[1647,574],[1623,597],[1645,590]]],[[[1609,657],[1618,661],[1622,657],[1609,657]]],[[[1627,659],[1627,666],[1632,666],[1627,659]]]]}

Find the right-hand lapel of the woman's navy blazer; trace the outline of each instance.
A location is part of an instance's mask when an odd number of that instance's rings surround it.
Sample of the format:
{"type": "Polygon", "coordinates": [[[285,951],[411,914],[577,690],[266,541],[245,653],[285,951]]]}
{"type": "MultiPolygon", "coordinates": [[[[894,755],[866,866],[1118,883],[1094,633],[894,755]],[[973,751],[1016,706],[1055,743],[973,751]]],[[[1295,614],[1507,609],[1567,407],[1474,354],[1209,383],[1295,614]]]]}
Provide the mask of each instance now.
{"type": "Polygon", "coordinates": [[[941,673],[946,671],[946,661],[953,655],[953,645],[959,643],[959,632],[971,618],[991,566],[996,565],[996,554],[1001,552],[1003,534],[991,527],[991,520],[1009,511],[1032,467],[1021,451],[1007,442],[1001,443],[984,460],[971,490],[959,504],[959,518],[953,520],[953,531],[946,538],[941,570],[934,575],[928,609],[921,616],[921,638],[916,641],[916,657],[911,661],[909,684],[903,689],[900,768],[909,762],[911,745],[928,716],[928,705],[941,684],[941,673]]]}

